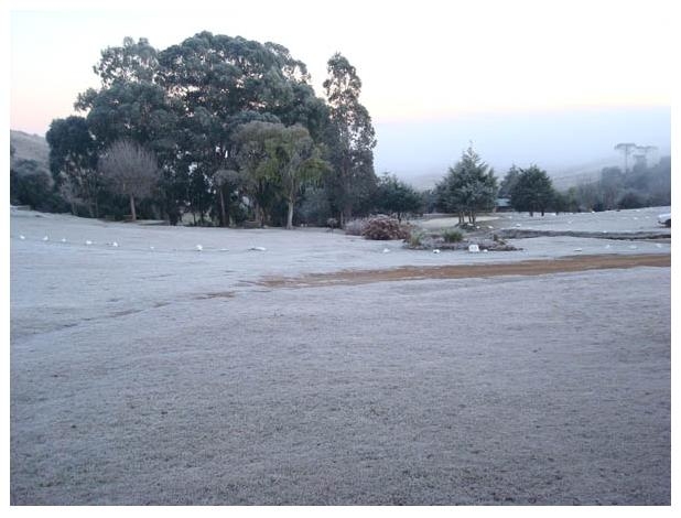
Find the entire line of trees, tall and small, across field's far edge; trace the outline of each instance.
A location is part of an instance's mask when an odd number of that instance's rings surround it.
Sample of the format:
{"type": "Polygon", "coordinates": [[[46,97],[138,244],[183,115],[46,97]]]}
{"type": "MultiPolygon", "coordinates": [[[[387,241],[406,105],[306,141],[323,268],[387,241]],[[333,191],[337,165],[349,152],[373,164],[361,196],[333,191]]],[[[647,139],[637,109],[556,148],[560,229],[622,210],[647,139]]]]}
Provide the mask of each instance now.
{"type": "Polygon", "coordinates": [[[101,52],[94,72],[100,86],[75,104],[84,116],[55,119],[47,131],[52,177],[31,161],[12,161],[13,203],[89,217],[177,224],[191,215],[195,225],[288,228],[434,211],[475,224],[499,197],[531,215],[671,203],[670,158],[648,166],[655,148],[635,143],[615,147],[624,172],[606,168],[597,182],[563,192],[538,165],[514,165],[499,182],[472,147],[431,191],[390,173],[378,177],[361,80],[338,53],[327,63],[326,99],[285,47],[209,32],[163,51],[127,37],[101,52]]]}

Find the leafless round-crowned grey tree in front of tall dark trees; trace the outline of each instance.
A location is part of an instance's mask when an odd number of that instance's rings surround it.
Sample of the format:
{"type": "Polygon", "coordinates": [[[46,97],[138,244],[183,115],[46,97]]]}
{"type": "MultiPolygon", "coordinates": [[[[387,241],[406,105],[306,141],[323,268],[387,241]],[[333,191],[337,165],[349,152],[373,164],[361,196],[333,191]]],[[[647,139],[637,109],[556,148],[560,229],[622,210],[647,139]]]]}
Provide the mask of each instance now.
{"type": "Polygon", "coordinates": [[[132,220],[137,220],[134,199],[148,197],[159,181],[155,155],[130,140],[117,140],[99,159],[99,170],[118,194],[130,197],[132,220]]]}

